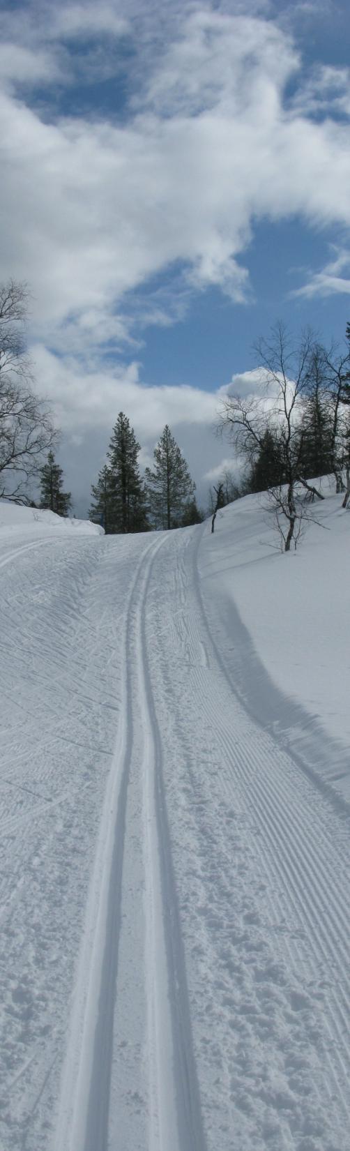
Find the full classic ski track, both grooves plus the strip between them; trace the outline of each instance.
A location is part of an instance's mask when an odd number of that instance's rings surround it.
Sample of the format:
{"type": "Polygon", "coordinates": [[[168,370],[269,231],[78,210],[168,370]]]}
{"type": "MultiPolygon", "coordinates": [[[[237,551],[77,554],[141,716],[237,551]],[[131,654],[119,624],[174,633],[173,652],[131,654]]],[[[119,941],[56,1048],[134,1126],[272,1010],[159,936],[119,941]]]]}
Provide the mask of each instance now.
{"type": "Polygon", "coordinates": [[[205,1151],[145,633],[150,577],[166,541],[143,554],[125,613],[124,692],[56,1151],[205,1151]]]}

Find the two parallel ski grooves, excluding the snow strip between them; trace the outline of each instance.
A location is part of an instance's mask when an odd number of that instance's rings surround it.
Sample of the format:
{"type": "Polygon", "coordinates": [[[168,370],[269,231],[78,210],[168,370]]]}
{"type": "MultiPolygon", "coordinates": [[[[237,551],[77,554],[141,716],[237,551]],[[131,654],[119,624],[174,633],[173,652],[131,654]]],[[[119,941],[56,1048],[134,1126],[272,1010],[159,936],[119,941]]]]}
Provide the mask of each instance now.
{"type": "Polygon", "coordinates": [[[166,540],[163,536],[155,544],[152,541],[144,551],[127,608],[121,718],[76,978],[55,1151],[107,1151],[108,1146],[111,1072],[117,1035],[127,799],[134,754],[132,698],[138,700],[144,733],[149,1149],[205,1151],[161,773],[161,740],[147,664],[147,592],[157,554],[166,540]],[[136,654],[136,692],[130,663],[132,650],[136,654]]]}

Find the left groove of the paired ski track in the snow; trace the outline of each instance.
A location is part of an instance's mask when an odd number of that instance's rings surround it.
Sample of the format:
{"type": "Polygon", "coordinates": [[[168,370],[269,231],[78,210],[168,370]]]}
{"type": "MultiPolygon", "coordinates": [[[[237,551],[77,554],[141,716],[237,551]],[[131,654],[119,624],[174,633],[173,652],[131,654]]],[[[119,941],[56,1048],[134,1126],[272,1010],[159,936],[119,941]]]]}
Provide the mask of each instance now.
{"type": "Polygon", "coordinates": [[[152,548],[153,542],[143,552],[137,565],[124,617],[125,677],[121,714],[76,975],[70,1038],[56,1119],[55,1151],[104,1151],[106,1148],[125,807],[132,749],[132,609],[140,573],[152,548]]]}

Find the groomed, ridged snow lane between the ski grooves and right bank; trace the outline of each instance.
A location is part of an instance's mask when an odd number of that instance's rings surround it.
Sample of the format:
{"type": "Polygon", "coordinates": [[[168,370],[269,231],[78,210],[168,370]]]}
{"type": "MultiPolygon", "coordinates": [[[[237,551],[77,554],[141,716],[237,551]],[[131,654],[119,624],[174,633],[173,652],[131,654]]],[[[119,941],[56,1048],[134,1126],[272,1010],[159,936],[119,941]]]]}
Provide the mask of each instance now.
{"type": "Polygon", "coordinates": [[[345,1151],[345,820],[237,699],[196,535],[160,557],[149,651],[207,1143],[345,1151]]]}

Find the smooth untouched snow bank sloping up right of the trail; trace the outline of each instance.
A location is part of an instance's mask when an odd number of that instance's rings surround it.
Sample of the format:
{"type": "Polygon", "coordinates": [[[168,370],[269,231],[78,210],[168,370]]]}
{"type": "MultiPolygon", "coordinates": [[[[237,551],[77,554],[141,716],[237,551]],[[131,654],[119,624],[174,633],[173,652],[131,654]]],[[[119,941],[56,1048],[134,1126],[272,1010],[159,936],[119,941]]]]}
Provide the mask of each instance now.
{"type": "MultiPolygon", "coordinates": [[[[225,508],[200,547],[206,597],[226,622],[226,658],[245,703],[350,798],[350,513],[324,481],[296,551],[279,550],[266,495],[225,508]],[[334,745],[329,757],[322,735],[334,745]]],[[[210,608],[208,608],[210,610],[210,608]]],[[[328,748],[329,750],[329,748],[328,748]]]]}

